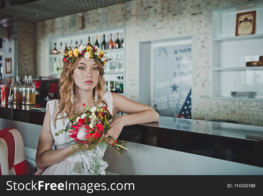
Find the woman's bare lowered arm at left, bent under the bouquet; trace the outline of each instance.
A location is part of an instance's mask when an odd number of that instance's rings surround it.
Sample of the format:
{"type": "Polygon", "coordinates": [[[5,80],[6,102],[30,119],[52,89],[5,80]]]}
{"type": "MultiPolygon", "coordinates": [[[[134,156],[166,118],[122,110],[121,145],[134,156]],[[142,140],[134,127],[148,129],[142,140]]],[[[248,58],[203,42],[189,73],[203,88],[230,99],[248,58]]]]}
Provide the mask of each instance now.
{"type": "Polygon", "coordinates": [[[36,151],[36,165],[39,169],[54,165],[68,158],[66,154],[71,150],[71,146],[52,150],[53,136],[50,128],[51,114],[49,107],[44,117],[42,131],[39,137],[36,151]]]}

